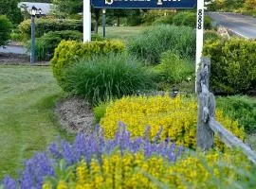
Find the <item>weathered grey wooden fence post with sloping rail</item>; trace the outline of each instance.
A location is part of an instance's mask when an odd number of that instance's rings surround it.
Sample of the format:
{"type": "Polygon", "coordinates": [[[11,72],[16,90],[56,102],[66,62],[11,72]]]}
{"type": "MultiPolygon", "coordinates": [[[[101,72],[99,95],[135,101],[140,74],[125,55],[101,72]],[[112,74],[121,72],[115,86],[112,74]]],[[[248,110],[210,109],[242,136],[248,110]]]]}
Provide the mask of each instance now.
{"type": "Polygon", "coordinates": [[[203,58],[201,71],[197,76],[198,119],[197,119],[197,147],[208,150],[213,147],[214,134],[229,147],[241,148],[247,158],[256,164],[256,152],[244,144],[229,130],[215,121],[216,101],[214,94],[210,93],[210,60],[203,58]]]}

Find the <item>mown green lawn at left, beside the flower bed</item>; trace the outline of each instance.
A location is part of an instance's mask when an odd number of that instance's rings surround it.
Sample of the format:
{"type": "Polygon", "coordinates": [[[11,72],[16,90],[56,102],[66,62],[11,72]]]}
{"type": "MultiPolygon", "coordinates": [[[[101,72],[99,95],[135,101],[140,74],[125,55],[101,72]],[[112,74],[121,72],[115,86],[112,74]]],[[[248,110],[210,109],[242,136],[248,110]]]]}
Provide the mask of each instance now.
{"type": "Polygon", "coordinates": [[[0,180],[57,136],[53,106],[63,93],[49,67],[0,66],[0,180]]]}

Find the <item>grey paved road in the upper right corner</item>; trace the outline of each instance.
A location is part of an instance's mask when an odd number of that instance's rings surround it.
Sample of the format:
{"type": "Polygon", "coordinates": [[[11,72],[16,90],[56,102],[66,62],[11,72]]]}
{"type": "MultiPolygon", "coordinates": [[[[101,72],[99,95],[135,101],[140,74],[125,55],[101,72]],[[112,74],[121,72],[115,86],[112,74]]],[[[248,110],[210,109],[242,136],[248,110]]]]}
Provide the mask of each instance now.
{"type": "Polygon", "coordinates": [[[247,39],[256,39],[256,18],[234,13],[208,12],[217,24],[247,39]]]}

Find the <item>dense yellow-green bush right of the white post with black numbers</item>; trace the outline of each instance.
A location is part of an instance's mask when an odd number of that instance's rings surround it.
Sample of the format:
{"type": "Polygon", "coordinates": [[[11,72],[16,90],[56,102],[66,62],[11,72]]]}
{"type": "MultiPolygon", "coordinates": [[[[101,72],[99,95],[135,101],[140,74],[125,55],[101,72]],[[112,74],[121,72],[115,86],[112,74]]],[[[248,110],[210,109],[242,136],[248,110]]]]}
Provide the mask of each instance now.
{"type": "Polygon", "coordinates": [[[231,39],[205,44],[210,57],[210,86],[218,93],[247,93],[256,88],[256,41],[231,39]]]}

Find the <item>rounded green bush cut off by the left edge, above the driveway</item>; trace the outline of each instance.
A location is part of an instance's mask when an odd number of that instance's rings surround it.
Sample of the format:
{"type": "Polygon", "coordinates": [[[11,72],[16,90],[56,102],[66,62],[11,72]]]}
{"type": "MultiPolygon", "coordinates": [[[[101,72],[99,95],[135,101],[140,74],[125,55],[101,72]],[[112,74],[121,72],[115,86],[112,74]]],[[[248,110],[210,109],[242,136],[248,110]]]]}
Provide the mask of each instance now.
{"type": "Polygon", "coordinates": [[[0,15],[0,46],[8,43],[10,39],[11,23],[5,15],[0,15]]]}

